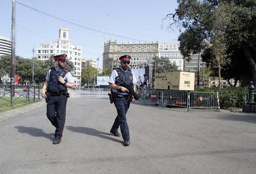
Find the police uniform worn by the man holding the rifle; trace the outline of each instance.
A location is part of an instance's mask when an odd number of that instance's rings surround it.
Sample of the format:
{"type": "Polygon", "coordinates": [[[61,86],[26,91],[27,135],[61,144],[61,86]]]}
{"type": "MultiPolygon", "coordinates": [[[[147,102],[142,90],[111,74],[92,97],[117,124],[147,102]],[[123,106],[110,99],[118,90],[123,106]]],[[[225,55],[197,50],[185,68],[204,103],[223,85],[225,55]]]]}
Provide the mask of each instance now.
{"type": "MultiPolygon", "coordinates": [[[[121,60],[122,57],[119,58],[119,60],[121,60]]],[[[130,58],[129,58],[130,59],[130,58]]],[[[132,73],[132,71],[130,69],[128,69],[126,72],[124,71],[124,69],[121,68],[116,68],[112,71],[110,77],[109,77],[109,83],[115,83],[116,85],[121,86],[121,84],[119,84],[115,79],[116,77],[122,77],[122,79],[134,86],[137,83],[137,80],[134,76],[134,74],[132,73]]],[[[130,101],[128,99],[128,93],[123,93],[120,89],[113,89],[113,93],[116,96],[116,99],[114,101],[114,106],[116,107],[117,110],[117,117],[114,120],[113,126],[111,128],[111,133],[113,133],[116,136],[119,136],[118,133],[118,128],[120,125],[120,129],[121,129],[121,134],[122,134],[122,138],[124,139],[124,141],[129,141],[130,139],[130,135],[129,135],[129,126],[127,124],[126,121],[126,113],[127,110],[130,107],[130,101]]]]}

